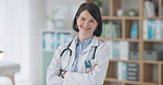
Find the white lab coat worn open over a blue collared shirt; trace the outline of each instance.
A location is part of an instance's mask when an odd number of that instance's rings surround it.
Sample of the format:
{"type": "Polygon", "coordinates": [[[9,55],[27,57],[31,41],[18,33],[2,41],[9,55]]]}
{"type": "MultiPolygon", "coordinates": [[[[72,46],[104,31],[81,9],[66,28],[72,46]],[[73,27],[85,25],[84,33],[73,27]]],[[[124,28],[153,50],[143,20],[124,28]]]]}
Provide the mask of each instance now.
{"type": "MultiPolygon", "coordinates": [[[[77,37],[76,37],[77,38],[77,37]]],[[[69,44],[69,42],[68,42],[69,44]]],[[[47,85],[102,85],[109,64],[109,47],[100,41],[96,36],[93,38],[90,45],[79,54],[78,72],[72,72],[72,65],[75,59],[75,39],[70,45],[72,57],[69,51],[65,51],[62,57],[61,52],[68,44],[62,45],[54,52],[52,62],[47,69],[46,84],[47,85]],[[95,46],[97,47],[95,59],[93,59],[95,46]],[[98,63],[94,71],[87,72],[85,61],[90,60],[98,63]],[[58,76],[59,70],[66,68],[64,78],[58,76]]]]}

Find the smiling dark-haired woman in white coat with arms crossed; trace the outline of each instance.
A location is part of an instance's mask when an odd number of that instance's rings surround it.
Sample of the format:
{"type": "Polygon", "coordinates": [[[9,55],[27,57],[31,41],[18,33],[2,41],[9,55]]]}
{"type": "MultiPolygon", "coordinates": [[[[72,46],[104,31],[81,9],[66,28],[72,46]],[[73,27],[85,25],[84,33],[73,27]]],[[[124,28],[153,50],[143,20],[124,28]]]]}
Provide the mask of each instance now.
{"type": "Polygon", "coordinates": [[[47,85],[102,85],[109,47],[97,38],[102,32],[99,8],[90,2],[83,3],[73,29],[78,36],[55,51],[47,69],[47,85]]]}

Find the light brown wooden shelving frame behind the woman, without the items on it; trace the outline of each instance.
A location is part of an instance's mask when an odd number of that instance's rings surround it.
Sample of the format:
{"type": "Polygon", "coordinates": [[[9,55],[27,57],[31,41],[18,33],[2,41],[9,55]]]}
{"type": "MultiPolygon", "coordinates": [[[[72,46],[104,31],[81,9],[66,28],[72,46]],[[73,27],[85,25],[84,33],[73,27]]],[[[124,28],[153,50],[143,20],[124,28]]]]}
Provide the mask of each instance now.
{"type": "MultiPolygon", "coordinates": [[[[86,0],[94,2],[95,0],[86,0]]],[[[101,0],[105,3],[102,7],[104,23],[113,21],[120,25],[121,36],[118,38],[99,37],[102,41],[128,41],[132,48],[135,48],[139,52],[138,60],[120,60],[110,59],[107,76],[104,85],[163,85],[163,61],[145,60],[144,52],[146,50],[163,50],[163,39],[144,39],[144,21],[145,20],[163,20],[163,0],[101,0]],[[106,2],[108,2],[108,10],[106,9],[106,2]],[[152,1],[156,4],[155,16],[144,16],[144,2],[152,1]],[[122,15],[118,16],[117,11],[122,9],[128,11],[130,9],[137,10],[135,16],[122,15]],[[138,38],[132,39],[131,25],[133,22],[139,24],[138,38]],[[138,81],[121,81],[118,78],[118,62],[135,63],[139,65],[139,80],[138,81]]]]}

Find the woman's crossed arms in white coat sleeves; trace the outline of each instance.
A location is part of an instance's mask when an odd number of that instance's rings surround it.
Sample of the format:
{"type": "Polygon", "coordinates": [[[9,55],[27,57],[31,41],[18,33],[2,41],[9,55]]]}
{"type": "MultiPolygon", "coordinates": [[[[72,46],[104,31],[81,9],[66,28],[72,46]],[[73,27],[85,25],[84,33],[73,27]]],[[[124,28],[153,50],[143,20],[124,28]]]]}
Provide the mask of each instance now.
{"type": "Polygon", "coordinates": [[[59,50],[57,50],[47,70],[47,85],[102,85],[109,63],[109,48],[104,47],[102,50],[104,51],[97,53],[96,59],[98,62],[91,66],[90,72],[78,73],[63,71],[62,74],[59,74],[59,50]]]}

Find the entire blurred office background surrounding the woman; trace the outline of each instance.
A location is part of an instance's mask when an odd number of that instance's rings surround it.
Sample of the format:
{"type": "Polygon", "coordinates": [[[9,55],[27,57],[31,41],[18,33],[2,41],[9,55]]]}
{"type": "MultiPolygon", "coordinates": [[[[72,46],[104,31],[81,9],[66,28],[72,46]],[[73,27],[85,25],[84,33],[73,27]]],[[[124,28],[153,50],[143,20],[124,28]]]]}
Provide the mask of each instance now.
{"type": "Polygon", "coordinates": [[[0,0],[0,85],[45,85],[86,1],[99,7],[110,47],[104,85],[163,85],[163,0],[0,0]]]}

